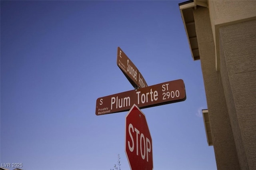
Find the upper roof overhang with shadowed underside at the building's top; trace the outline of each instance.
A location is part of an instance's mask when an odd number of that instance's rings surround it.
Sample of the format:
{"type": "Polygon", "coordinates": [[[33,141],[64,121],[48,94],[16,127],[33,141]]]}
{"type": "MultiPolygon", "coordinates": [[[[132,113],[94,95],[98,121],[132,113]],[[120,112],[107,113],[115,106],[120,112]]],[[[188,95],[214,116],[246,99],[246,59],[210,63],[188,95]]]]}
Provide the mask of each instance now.
{"type": "Polygon", "coordinates": [[[208,7],[207,0],[189,0],[180,3],[179,6],[192,58],[194,60],[198,60],[200,59],[200,54],[196,37],[196,26],[193,10],[196,9],[196,6],[208,7]]]}

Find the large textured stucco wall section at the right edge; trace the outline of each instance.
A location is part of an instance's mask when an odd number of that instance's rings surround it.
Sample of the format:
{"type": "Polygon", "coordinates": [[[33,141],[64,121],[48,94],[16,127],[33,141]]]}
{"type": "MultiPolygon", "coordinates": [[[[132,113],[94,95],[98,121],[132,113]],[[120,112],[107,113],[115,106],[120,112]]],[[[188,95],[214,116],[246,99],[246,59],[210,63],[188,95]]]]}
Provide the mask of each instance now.
{"type": "Polygon", "coordinates": [[[256,169],[256,20],[220,27],[221,76],[240,166],[256,169]]]}

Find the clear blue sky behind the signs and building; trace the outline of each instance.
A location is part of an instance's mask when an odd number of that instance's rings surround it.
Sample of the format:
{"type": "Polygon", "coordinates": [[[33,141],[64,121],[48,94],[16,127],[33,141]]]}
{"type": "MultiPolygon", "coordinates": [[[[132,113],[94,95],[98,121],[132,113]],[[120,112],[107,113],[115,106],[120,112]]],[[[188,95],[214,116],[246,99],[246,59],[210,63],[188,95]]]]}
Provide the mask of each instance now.
{"type": "MultiPolygon", "coordinates": [[[[186,101],[142,109],[154,170],[215,170],[193,61],[178,3],[184,1],[2,1],[0,162],[24,170],[130,166],[128,112],[95,115],[96,99],[130,91],[117,47],[147,84],[183,79],[186,101]]],[[[14,168],[9,168],[14,169],[14,168]]]]}

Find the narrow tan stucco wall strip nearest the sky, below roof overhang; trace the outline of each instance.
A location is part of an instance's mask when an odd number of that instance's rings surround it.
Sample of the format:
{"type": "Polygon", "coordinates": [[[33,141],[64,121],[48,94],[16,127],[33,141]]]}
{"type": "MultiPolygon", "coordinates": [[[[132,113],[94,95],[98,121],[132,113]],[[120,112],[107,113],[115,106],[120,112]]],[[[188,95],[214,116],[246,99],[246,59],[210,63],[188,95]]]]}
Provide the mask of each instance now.
{"type": "Polygon", "coordinates": [[[194,10],[194,20],[217,168],[239,170],[221,76],[215,70],[215,46],[208,8],[194,10]]]}

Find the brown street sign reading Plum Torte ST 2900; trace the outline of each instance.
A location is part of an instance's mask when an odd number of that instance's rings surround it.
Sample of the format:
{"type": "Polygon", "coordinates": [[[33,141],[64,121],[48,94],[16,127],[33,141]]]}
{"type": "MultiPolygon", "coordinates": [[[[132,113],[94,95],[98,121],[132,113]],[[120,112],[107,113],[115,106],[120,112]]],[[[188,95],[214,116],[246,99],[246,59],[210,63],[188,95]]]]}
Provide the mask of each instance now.
{"type": "Polygon", "coordinates": [[[182,79],[168,81],[138,90],[100,97],[96,100],[96,115],[130,110],[133,104],[140,109],[186,100],[182,79]]]}

